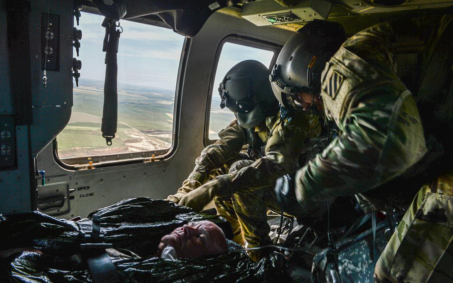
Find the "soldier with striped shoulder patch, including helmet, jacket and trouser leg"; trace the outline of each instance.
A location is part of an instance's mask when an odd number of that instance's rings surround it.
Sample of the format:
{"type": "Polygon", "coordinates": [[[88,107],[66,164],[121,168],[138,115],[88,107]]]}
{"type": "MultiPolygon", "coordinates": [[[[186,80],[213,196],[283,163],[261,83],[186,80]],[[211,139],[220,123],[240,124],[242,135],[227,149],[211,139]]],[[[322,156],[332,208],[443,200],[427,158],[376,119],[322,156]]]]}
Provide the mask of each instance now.
{"type": "MultiPolygon", "coordinates": [[[[427,152],[414,98],[396,75],[394,27],[381,23],[367,28],[346,40],[337,51],[326,46],[324,40],[337,34],[339,27],[315,21],[283,47],[272,76],[277,99],[289,106],[313,100],[324,103],[326,116],[340,128],[339,137],[296,174],[295,194],[302,208],[323,205],[321,202],[335,196],[355,194],[365,212],[379,209],[381,203],[367,199],[365,192],[403,174],[427,152]]],[[[453,237],[452,228],[448,228],[452,222],[452,198],[429,192],[430,188],[447,192],[451,187],[447,183],[453,183],[449,175],[419,192],[393,235],[391,247],[385,249],[377,263],[377,282],[426,282],[421,274],[429,277],[432,265],[437,263],[437,258],[435,263],[433,258],[442,256],[453,237]],[[446,201],[450,204],[445,205],[446,201]],[[417,211],[420,206],[426,209],[417,211]],[[409,222],[418,221],[411,221],[414,214],[419,214],[425,225],[407,232],[413,224],[409,222]],[[436,223],[440,222],[445,224],[444,229],[434,230],[432,226],[439,226],[436,223]],[[433,233],[439,231],[448,237],[435,240],[433,233]],[[398,249],[399,242],[409,244],[398,249]],[[442,245],[437,245],[440,242],[442,245]]],[[[382,199],[385,203],[385,195],[382,199]]]]}

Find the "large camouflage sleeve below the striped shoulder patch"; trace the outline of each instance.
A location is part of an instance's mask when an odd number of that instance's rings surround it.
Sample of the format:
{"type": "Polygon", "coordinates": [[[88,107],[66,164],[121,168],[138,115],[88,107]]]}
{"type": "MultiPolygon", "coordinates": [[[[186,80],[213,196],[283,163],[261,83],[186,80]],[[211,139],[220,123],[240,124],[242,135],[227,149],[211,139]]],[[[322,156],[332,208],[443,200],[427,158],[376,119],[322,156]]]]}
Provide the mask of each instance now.
{"type": "Polygon", "coordinates": [[[426,153],[412,95],[391,85],[367,94],[343,132],[296,174],[296,196],[309,208],[334,196],[363,193],[404,173],[426,153]],[[392,99],[396,97],[396,99],[392,99]]]}

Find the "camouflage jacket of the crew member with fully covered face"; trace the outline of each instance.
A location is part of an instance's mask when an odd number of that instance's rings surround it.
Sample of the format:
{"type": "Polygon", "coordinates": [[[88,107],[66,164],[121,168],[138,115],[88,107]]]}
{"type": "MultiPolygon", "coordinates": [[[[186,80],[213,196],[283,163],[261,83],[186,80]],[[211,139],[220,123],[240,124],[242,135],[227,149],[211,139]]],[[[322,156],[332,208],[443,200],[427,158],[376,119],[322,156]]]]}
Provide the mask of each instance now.
{"type": "MultiPolygon", "coordinates": [[[[269,118],[271,119],[271,117],[269,118]]],[[[193,191],[214,177],[226,174],[229,167],[235,161],[241,159],[256,159],[259,148],[251,150],[250,156],[241,152],[242,146],[256,143],[259,147],[268,139],[268,129],[266,125],[255,127],[256,139],[260,141],[250,141],[250,135],[246,135],[246,130],[241,128],[237,121],[231,122],[226,129],[219,133],[219,140],[206,146],[201,155],[195,160],[195,167],[189,177],[183,182],[182,187],[174,195],[169,195],[168,200],[178,203],[188,192],[193,191]]]]}

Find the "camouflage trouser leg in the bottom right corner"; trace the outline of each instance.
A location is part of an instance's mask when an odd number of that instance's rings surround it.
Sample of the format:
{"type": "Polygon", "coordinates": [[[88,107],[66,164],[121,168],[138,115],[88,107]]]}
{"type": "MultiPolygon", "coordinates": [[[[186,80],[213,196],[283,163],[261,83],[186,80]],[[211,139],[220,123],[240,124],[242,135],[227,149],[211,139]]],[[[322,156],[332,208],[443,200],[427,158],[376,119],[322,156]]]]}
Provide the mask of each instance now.
{"type": "Polygon", "coordinates": [[[376,264],[378,283],[453,282],[453,170],[424,185],[376,264]]]}

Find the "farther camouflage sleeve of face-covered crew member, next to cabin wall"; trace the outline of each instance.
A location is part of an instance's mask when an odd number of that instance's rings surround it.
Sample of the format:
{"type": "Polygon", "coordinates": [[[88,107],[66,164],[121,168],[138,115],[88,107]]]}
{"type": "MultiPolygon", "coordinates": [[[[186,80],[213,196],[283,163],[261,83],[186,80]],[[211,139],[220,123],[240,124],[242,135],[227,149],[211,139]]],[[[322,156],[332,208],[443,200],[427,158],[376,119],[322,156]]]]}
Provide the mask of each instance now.
{"type": "Polygon", "coordinates": [[[228,160],[237,157],[242,145],[246,143],[244,132],[236,121],[231,122],[219,133],[219,140],[204,148],[195,160],[195,167],[181,188],[168,200],[178,203],[188,192],[204,184],[210,172],[221,168],[228,160]]]}

